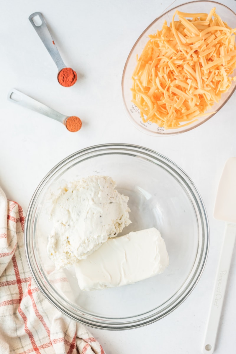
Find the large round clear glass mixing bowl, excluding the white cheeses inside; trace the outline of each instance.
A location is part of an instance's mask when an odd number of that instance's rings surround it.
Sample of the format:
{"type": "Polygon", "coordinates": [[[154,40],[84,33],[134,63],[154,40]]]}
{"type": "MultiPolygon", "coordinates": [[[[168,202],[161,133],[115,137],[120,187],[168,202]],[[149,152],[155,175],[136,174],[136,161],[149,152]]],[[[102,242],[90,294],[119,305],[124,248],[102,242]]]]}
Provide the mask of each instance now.
{"type": "Polygon", "coordinates": [[[209,229],[201,196],[174,162],[136,145],[105,144],[80,150],[56,165],[36,189],[25,220],[31,274],[45,297],[65,315],[101,329],[131,329],[157,321],[193,290],[207,259],[209,229]],[[164,273],[106,290],[81,291],[72,268],[55,272],[46,247],[52,225],[47,193],[61,180],[111,176],[129,196],[130,231],[155,227],[169,253],[164,273]]]}

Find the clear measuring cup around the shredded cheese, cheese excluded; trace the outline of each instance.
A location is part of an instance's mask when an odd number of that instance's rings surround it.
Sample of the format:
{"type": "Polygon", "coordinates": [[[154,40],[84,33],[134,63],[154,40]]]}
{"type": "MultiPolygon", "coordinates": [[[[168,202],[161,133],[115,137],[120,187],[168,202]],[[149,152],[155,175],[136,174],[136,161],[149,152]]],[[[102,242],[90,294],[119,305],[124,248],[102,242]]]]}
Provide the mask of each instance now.
{"type": "MultiPolygon", "coordinates": [[[[196,13],[196,12],[206,12],[209,13],[213,7],[216,7],[216,12],[223,21],[226,21],[227,24],[231,28],[235,28],[236,24],[236,14],[234,11],[230,10],[227,6],[220,4],[219,2],[215,1],[193,1],[193,2],[186,2],[185,4],[178,5],[171,10],[165,12],[160,17],[156,18],[140,35],[140,37],[135,42],[134,46],[132,47],[129,56],[126,60],[123,75],[122,75],[122,98],[123,98],[123,105],[125,109],[125,113],[128,116],[129,121],[140,131],[147,133],[153,136],[169,136],[175,135],[178,133],[183,133],[189,131],[197,126],[201,125],[202,123],[206,122],[210,119],[214,114],[216,114],[220,108],[228,101],[228,99],[232,96],[236,89],[236,81],[232,82],[230,89],[222,94],[222,98],[218,103],[215,103],[211,109],[207,110],[207,115],[204,117],[199,118],[197,121],[193,121],[190,125],[185,127],[177,127],[175,129],[164,129],[163,127],[159,127],[155,123],[146,122],[144,123],[140,118],[140,111],[136,107],[134,103],[131,102],[132,99],[132,74],[137,64],[136,56],[140,57],[143,48],[145,47],[147,41],[149,40],[148,35],[154,34],[157,30],[161,30],[164,20],[167,21],[167,25],[170,24],[172,21],[172,17],[176,10],[188,13],[196,13]]],[[[232,76],[236,76],[236,69],[234,70],[232,76]]]]}

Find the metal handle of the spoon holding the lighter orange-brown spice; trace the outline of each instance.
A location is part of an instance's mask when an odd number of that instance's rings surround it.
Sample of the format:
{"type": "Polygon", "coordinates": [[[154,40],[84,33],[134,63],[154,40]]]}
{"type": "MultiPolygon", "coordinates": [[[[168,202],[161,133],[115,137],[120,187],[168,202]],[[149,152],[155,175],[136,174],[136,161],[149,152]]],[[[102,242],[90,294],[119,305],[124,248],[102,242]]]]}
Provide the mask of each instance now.
{"type": "Polygon", "coordinates": [[[46,115],[47,117],[55,119],[63,124],[65,123],[65,120],[67,118],[66,115],[63,115],[55,111],[54,109],[47,107],[45,104],[36,101],[36,99],[31,98],[16,89],[12,89],[8,92],[7,99],[10,102],[14,102],[23,107],[34,110],[35,112],[46,115]]]}

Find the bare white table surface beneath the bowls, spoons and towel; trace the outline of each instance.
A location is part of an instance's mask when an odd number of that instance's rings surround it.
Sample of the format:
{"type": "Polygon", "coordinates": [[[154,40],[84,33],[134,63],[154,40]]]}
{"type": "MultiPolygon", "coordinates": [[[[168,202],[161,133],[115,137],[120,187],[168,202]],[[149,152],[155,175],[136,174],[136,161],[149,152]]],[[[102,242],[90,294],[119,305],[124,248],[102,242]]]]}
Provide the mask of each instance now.
{"type": "MultiPolygon", "coordinates": [[[[172,0],[13,0],[1,3],[0,185],[27,210],[38,183],[77,150],[101,143],[131,143],[156,150],[193,179],[210,223],[205,270],[189,297],[170,315],[126,331],[90,328],[107,354],[201,353],[224,223],[212,217],[225,161],[236,156],[236,93],[212,119],[172,137],[150,137],[125,116],[121,77],[129,51],[172,0]],[[71,88],[57,82],[57,68],[28,17],[40,11],[65,64],[76,70],[71,88]],[[66,115],[78,115],[81,131],[70,133],[43,115],[7,101],[16,88],[66,115]]],[[[236,1],[221,0],[236,11],[236,1]]],[[[216,353],[235,353],[236,259],[232,258],[216,353]]]]}

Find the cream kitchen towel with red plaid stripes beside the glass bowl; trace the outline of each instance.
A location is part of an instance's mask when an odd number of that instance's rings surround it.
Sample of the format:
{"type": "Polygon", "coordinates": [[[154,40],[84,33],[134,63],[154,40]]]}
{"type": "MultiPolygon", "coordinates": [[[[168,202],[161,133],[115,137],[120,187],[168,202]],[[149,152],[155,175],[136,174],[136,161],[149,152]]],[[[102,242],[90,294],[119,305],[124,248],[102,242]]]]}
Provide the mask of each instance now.
{"type": "Polygon", "coordinates": [[[0,354],[105,354],[87,329],[61,314],[31,278],[24,213],[0,188],[0,354]]]}

